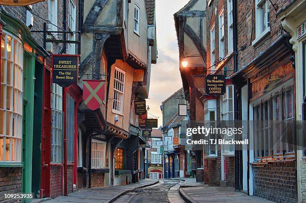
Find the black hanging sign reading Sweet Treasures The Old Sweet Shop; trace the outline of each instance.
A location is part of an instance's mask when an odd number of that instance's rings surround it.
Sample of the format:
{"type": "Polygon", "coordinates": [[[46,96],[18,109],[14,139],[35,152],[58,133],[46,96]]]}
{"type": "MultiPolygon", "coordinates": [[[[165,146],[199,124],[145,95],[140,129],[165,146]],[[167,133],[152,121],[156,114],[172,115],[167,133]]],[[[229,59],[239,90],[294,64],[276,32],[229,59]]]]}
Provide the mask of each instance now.
{"type": "Polygon", "coordinates": [[[52,82],[61,87],[77,84],[78,56],[54,54],[52,55],[52,82]]]}

